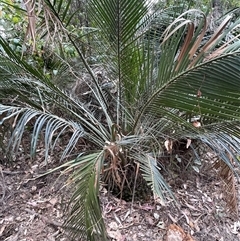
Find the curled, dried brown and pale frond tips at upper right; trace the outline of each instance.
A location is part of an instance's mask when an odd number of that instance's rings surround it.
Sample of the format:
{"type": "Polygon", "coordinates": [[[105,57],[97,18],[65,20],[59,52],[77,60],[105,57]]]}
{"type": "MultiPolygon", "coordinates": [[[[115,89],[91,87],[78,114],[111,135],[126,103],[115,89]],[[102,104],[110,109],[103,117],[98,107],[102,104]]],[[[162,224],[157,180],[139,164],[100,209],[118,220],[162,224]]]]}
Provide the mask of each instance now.
{"type": "MultiPolygon", "coordinates": [[[[171,36],[176,34],[180,29],[186,29],[186,35],[184,37],[184,41],[182,46],[180,47],[178,57],[177,57],[177,64],[176,64],[176,71],[179,71],[182,64],[185,65],[187,63],[187,68],[191,68],[195,64],[197,64],[201,59],[204,61],[210,60],[212,58],[216,58],[220,56],[224,51],[226,51],[227,47],[234,41],[231,40],[220,47],[216,47],[218,41],[224,38],[225,33],[224,30],[228,27],[232,16],[227,16],[222,21],[220,26],[214,30],[213,35],[207,40],[206,43],[201,46],[203,42],[203,38],[206,36],[207,31],[210,29],[210,23],[207,20],[207,16],[198,10],[188,10],[185,13],[181,14],[178,18],[176,18],[172,24],[170,24],[167,29],[163,33],[163,42],[164,44],[171,36]],[[186,16],[188,14],[197,13],[201,16],[202,26],[201,29],[198,29],[199,24],[196,21],[192,21],[187,19],[186,16]],[[201,47],[200,47],[201,46],[201,47]]],[[[232,29],[233,30],[233,29],[232,29]]],[[[162,38],[161,38],[162,39],[162,38]]]]}

